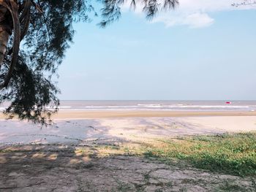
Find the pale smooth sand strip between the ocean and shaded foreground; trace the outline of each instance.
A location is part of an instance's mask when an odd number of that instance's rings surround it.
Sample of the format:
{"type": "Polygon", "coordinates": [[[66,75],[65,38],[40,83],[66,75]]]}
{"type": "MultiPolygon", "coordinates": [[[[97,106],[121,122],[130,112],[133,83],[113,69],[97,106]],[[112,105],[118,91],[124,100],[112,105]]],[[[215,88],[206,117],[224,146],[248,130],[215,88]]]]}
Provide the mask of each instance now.
{"type": "Polygon", "coordinates": [[[0,121],[0,144],[143,141],[194,134],[256,131],[255,112],[72,111],[61,110],[53,125],[0,121]]]}

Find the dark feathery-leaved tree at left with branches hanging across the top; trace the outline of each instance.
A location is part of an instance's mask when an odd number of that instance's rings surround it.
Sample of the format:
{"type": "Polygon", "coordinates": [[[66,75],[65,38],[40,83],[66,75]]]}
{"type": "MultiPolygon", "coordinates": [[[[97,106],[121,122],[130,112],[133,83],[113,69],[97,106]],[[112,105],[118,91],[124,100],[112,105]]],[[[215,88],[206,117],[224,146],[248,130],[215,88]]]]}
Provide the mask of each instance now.
{"type": "MultiPolygon", "coordinates": [[[[102,0],[99,26],[121,17],[121,5],[143,5],[146,18],[173,9],[178,0],[102,0]]],[[[12,118],[46,123],[57,112],[59,89],[52,81],[74,36],[72,24],[97,16],[89,0],[0,0],[0,103],[12,118]],[[90,17],[90,15],[92,15],[90,17]],[[22,46],[21,46],[22,45],[22,46]]]]}

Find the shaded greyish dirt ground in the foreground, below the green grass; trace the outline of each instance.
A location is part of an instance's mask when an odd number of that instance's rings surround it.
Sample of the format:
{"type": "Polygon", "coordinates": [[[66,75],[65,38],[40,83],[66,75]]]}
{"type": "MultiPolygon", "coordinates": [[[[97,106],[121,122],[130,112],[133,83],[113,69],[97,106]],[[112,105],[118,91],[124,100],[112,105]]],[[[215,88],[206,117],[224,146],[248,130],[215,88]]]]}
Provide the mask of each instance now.
{"type": "Polygon", "coordinates": [[[100,155],[92,146],[0,150],[0,191],[256,191],[256,178],[206,172],[176,161],[100,155]]]}

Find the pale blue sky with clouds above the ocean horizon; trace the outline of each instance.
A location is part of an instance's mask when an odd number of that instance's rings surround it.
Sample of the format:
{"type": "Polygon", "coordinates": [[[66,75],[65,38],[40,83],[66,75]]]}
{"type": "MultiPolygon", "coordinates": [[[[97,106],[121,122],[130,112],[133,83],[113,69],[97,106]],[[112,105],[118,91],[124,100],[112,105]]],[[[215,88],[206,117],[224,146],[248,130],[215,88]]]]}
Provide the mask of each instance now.
{"type": "Polygon", "coordinates": [[[180,0],[148,21],[127,4],[107,28],[77,23],[62,100],[256,100],[256,6],[180,0]]]}

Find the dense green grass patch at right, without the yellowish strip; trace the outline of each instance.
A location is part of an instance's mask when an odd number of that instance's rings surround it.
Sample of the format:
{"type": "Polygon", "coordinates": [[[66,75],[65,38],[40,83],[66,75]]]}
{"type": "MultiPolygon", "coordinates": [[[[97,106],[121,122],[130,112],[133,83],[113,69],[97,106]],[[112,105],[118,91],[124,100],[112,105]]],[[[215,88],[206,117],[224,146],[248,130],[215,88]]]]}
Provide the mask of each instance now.
{"type": "Polygon", "coordinates": [[[256,133],[217,134],[161,140],[147,147],[146,157],[172,161],[173,158],[214,172],[240,176],[256,175],[256,133]]]}

